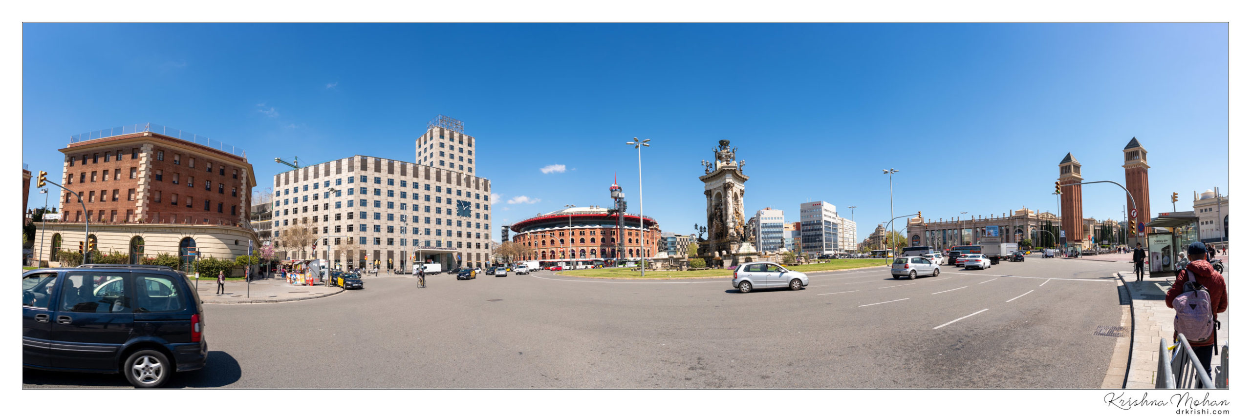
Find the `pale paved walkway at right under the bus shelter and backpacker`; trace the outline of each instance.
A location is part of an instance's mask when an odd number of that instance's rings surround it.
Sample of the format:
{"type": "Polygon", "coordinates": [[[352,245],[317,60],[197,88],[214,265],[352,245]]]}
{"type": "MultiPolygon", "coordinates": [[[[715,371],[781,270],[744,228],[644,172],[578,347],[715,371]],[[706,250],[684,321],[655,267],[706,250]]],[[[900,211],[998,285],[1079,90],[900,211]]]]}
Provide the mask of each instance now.
{"type": "MultiPolygon", "coordinates": [[[[1130,294],[1133,312],[1130,369],[1125,377],[1125,389],[1155,389],[1156,369],[1160,362],[1160,340],[1172,341],[1175,314],[1165,304],[1165,292],[1172,286],[1173,279],[1145,276],[1142,281],[1137,281],[1132,269],[1118,271],[1117,275],[1130,294]]],[[[1228,311],[1217,316],[1222,325],[1216,334],[1217,351],[1212,357],[1213,366],[1221,362],[1220,347],[1230,341],[1228,311]]]]}

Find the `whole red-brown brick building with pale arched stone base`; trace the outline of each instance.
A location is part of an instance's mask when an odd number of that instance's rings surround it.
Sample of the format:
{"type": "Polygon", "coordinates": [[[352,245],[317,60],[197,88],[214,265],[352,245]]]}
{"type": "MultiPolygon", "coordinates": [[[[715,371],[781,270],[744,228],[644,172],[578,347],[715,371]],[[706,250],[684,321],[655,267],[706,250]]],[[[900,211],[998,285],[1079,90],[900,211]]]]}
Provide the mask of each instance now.
{"type": "MultiPolygon", "coordinates": [[[[76,250],[84,221],[100,252],[130,252],[131,261],[191,251],[234,259],[255,240],[248,216],[256,179],[241,149],[136,125],[74,136],[60,151],[60,182],[80,192],[83,202],[60,191],[61,220],[46,230],[53,250],[76,250]]],[[[41,260],[55,257],[53,251],[41,260]]]]}

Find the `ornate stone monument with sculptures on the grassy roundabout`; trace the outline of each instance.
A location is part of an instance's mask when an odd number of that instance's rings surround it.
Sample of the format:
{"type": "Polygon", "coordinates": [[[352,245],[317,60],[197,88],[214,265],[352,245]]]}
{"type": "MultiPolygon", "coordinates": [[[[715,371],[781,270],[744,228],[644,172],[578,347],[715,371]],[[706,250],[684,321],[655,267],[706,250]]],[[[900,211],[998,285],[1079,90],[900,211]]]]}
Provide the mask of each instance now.
{"type": "Polygon", "coordinates": [[[704,197],[707,199],[708,240],[699,244],[699,256],[711,266],[734,266],[756,261],[761,254],[753,245],[751,224],[743,216],[743,194],[747,191],[747,161],[734,159],[738,147],[721,140],[713,149],[713,161],[703,161],[704,197]]]}

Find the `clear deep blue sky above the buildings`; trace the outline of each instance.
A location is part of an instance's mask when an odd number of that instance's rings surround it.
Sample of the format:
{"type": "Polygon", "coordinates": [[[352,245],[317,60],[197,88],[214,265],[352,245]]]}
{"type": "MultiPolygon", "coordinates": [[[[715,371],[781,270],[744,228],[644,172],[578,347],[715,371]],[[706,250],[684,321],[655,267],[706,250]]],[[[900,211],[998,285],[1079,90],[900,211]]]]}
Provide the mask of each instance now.
{"type": "MultiPolygon", "coordinates": [[[[863,239],[889,219],[882,169],[901,171],[896,215],[1055,210],[1066,152],[1087,180],[1123,181],[1136,136],[1152,214],[1171,192],[1185,211],[1228,187],[1227,39],[1225,24],[25,24],[23,160],[59,176],[70,135],[153,122],[246,149],[263,190],[274,157],[412,161],[444,114],[479,139],[497,231],[610,205],[614,174],[637,211],[637,136],[653,144],[643,214],[687,234],[699,161],[727,139],[748,212],[858,206],[863,239]]],[[[1086,216],[1121,217],[1120,189],[1083,194],[1086,216]]]]}

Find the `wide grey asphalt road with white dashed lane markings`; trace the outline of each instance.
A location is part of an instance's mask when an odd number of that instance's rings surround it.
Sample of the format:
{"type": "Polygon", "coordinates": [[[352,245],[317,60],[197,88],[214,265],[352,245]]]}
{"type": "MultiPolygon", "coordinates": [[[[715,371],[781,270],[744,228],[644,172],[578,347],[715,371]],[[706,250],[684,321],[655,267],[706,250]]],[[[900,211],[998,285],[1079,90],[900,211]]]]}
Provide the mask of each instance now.
{"type": "MultiPolygon", "coordinates": [[[[169,387],[1098,389],[1125,264],[1037,257],[813,272],[801,291],[729,279],[375,277],[284,304],[205,305],[205,370],[169,387]]],[[[24,387],[129,387],[26,370],[24,387]]]]}

